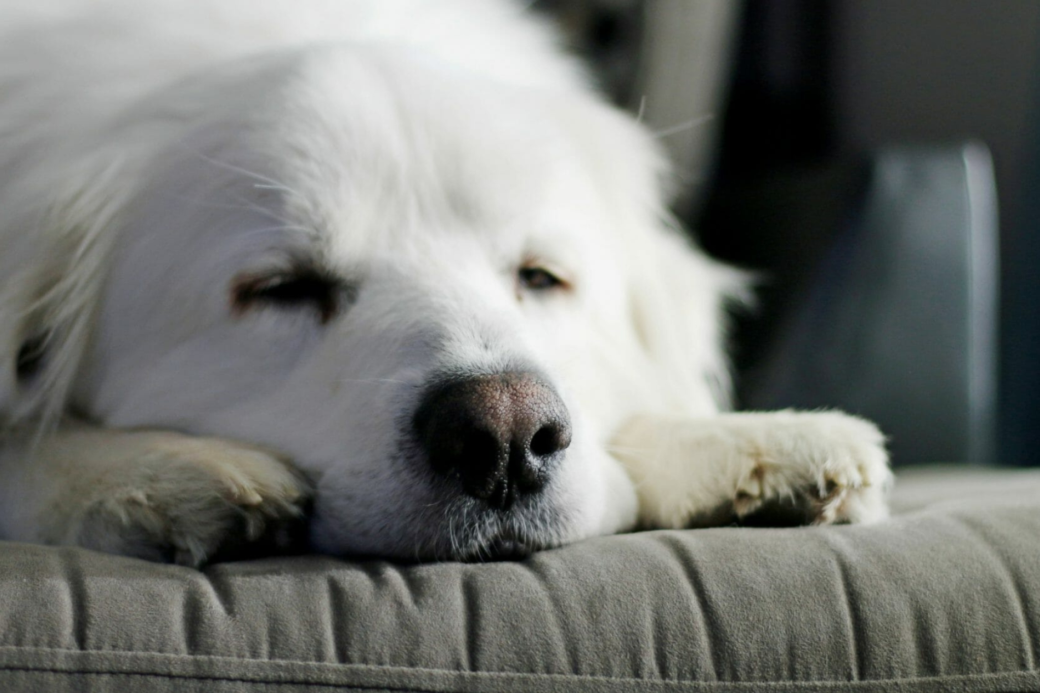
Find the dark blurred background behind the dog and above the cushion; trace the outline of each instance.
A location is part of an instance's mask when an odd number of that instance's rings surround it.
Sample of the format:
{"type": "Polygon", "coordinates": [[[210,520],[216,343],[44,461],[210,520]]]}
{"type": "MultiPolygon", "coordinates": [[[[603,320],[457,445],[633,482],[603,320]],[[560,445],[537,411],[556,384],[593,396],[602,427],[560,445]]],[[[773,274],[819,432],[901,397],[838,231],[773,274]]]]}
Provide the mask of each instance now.
{"type": "Polygon", "coordinates": [[[759,272],[740,406],[862,414],[896,465],[1040,464],[1040,2],[532,4],[759,272]]]}

